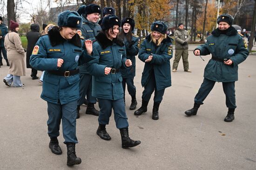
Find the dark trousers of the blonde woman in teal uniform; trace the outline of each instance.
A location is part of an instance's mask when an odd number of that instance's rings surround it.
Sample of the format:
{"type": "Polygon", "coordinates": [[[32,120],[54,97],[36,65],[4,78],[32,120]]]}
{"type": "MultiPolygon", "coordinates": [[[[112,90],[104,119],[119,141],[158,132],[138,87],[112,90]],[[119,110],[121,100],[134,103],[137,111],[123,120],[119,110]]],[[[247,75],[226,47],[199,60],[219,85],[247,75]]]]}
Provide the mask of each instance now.
{"type": "Polygon", "coordinates": [[[152,93],[155,91],[154,102],[161,103],[164,90],[165,89],[156,90],[155,74],[153,72],[150,74],[148,83],[145,85],[142,92],[142,100],[149,101],[152,93]]]}

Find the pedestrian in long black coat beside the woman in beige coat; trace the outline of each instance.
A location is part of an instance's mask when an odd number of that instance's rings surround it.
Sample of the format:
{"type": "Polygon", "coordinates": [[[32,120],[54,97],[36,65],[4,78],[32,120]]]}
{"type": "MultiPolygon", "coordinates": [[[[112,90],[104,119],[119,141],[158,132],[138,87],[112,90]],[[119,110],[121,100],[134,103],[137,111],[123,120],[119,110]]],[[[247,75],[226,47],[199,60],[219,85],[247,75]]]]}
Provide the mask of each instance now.
{"type": "Polygon", "coordinates": [[[35,80],[35,79],[38,79],[38,76],[37,75],[37,70],[32,68],[29,64],[29,59],[30,59],[30,56],[32,54],[32,51],[34,49],[34,46],[37,42],[37,40],[40,38],[40,33],[39,33],[39,30],[40,30],[40,27],[38,24],[31,24],[30,25],[30,30],[31,31],[28,31],[27,32],[27,68],[31,68],[31,77],[32,77],[32,80],[35,80]]]}

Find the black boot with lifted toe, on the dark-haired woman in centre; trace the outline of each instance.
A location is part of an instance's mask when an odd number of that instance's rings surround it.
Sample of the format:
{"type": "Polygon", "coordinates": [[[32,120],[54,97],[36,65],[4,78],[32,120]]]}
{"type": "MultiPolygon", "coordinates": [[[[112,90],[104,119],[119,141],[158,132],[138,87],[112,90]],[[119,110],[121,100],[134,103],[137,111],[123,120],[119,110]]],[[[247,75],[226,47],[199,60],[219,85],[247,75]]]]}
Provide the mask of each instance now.
{"type": "Polygon", "coordinates": [[[139,140],[132,140],[129,138],[129,132],[128,132],[128,127],[127,128],[121,128],[120,129],[121,133],[121,139],[122,139],[122,148],[127,149],[131,148],[137,145],[141,144],[141,141],[139,140]]]}

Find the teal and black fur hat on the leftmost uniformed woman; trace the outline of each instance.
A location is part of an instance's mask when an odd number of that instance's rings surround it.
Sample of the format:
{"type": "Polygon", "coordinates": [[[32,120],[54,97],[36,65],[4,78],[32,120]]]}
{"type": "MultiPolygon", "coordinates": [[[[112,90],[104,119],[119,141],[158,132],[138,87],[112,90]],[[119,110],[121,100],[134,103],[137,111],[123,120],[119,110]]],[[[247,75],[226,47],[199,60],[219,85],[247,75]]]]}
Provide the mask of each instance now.
{"type": "Polygon", "coordinates": [[[58,25],[80,29],[82,27],[82,17],[75,11],[64,11],[58,15],[58,25]]]}

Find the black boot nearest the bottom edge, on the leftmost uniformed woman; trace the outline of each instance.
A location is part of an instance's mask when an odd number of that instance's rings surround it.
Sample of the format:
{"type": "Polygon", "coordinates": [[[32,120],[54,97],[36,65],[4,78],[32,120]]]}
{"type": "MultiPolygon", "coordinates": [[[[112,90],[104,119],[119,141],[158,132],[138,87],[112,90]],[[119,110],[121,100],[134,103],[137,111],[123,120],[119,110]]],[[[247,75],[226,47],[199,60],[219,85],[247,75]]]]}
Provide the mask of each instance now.
{"type": "Polygon", "coordinates": [[[75,154],[75,144],[66,143],[66,145],[67,145],[67,166],[81,164],[82,162],[81,158],[76,157],[76,154],[75,154]]]}

